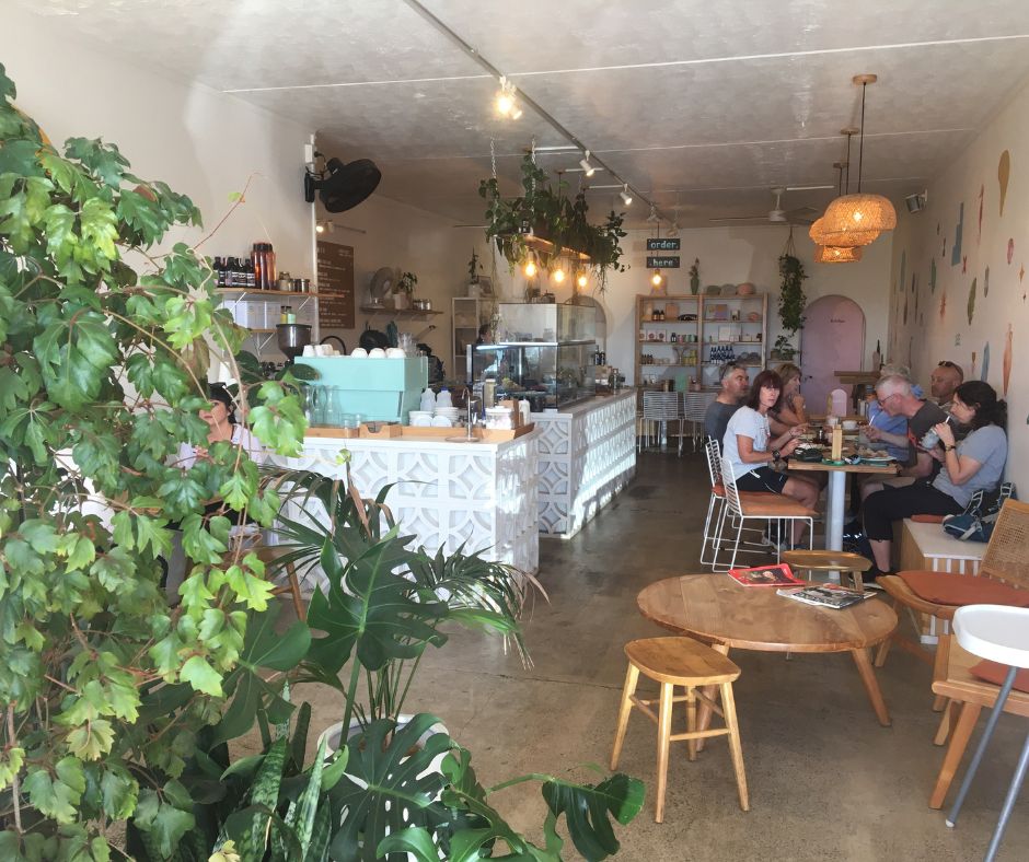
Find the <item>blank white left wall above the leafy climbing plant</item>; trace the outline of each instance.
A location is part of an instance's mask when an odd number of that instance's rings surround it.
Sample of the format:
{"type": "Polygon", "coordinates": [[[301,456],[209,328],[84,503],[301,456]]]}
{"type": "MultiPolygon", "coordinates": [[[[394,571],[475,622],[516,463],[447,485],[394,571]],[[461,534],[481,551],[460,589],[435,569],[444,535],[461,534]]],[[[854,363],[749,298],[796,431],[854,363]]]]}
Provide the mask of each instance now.
{"type": "MultiPolygon", "coordinates": [[[[203,86],[129,66],[65,33],[56,18],[3,10],[0,60],[16,104],[60,148],[69,137],[116,143],[132,173],[161,179],[200,208],[204,230],[172,241],[199,242],[246,190],[217,234],[198,251],[250,255],[271,242],[278,264],[312,276],[313,215],[302,191],[303,144],[311,130],[203,86]]],[[[198,61],[201,61],[198,57],[198,61]]]]}

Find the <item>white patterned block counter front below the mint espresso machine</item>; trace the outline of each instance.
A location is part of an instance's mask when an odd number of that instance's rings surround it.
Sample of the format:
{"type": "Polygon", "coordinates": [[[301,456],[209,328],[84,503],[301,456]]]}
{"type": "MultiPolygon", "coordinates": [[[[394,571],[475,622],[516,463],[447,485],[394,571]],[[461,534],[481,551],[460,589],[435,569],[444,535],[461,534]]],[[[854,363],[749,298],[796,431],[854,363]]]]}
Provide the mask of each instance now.
{"type": "MultiPolygon", "coordinates": [[[[454,432],[458,433],[458,432],[454,432]]],[[[534,573],[540,566],[539,432],[505,443],[437,439],[307,438],[303,454],[277,458],[285,467],[342,479],[337,463],[350,452],[350,475],[362,497],[393,485],[386,503],[404,534],[430,554],[484,551],[487,559],[534,573]]],[[[320,505],[315,503],[315,505],[320,505]]]]}

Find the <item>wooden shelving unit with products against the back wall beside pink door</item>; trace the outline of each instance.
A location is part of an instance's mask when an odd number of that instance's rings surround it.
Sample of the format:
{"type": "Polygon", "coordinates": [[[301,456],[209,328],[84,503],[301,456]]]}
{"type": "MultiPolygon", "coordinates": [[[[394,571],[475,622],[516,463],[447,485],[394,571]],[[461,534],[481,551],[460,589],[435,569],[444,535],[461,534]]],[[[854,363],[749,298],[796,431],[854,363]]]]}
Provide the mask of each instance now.
{"type": "Polygon", "coordinates": [[[685,385],[700,381],[703,389],[717,389],[717,369],[730,350],[753,376],[767,360],[767,306],[765,293],[637,295],[636,385],[684,376],[685,385]]]}

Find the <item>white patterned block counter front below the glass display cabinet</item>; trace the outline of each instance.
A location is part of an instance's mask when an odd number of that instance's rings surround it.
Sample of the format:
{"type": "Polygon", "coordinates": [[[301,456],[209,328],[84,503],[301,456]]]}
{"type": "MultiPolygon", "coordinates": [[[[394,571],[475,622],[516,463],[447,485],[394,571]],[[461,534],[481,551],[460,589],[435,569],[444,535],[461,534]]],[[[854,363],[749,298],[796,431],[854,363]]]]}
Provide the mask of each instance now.
{"type": "Polygon", "coordinates": [[[540,440],[540,532],[574,536],[636,474],[636,393],[533,413],[540,440]]]}

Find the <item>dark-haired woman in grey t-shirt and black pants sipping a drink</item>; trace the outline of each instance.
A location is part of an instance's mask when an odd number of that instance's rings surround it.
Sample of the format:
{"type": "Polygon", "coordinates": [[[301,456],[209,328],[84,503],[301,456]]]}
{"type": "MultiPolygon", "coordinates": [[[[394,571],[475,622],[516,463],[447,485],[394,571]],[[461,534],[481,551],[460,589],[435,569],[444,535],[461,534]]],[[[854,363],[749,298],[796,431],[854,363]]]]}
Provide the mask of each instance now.
{"type": "Polygon", "coordinates": [[[1007,461],[1007,404],[997,399],[988,383],[969,381],[955,391],[952,412],[972,431],[956,443],[949,421],[933,427],[939,443],[926,454],[943,465],[936,478],[918,479],[904,488],[886,488],[865,501],[865,535],[880,573],[890,570],[894,521],[922,513],[957,514],[975,491],[992,491],[1001,484],[1007,461]]]}

